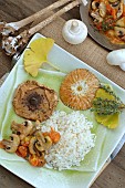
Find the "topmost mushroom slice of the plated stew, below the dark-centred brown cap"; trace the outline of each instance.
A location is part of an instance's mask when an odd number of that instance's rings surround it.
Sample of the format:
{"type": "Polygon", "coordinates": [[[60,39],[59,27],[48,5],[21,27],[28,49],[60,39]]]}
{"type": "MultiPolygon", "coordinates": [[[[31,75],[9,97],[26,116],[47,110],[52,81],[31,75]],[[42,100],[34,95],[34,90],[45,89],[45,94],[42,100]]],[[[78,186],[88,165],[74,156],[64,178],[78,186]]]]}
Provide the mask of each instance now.
{"type": "Polygon", "coordinates": [[[31,121],[25,121],[22,124],[18,124],[14,121],[11,124],[12,132],[15,132],[20,135],[20,139],[22,140],[28,135],[31,135],[34,132],[34,125],[31,121]]]}

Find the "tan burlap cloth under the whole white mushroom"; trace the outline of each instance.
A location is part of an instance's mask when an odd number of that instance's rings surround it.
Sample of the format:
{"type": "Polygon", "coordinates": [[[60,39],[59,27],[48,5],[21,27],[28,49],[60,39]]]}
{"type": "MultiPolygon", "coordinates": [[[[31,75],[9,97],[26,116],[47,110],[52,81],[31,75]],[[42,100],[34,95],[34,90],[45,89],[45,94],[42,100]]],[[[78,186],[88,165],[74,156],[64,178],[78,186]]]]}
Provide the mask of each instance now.
{"type": "Polygon", "coordinates": [[[64,23],[64,19],[59,18],[56,21],[42,29],[40,33],[45,36],[53,38],[56,44],[125,88],[125,72],[122,71],[119,66],[111,66],[107,64],[106,55],[108,51],[94,42],[90,36],[87,36],[87,39],[82,44],[69,44],[62,36],[62,28],[64,23]]]}

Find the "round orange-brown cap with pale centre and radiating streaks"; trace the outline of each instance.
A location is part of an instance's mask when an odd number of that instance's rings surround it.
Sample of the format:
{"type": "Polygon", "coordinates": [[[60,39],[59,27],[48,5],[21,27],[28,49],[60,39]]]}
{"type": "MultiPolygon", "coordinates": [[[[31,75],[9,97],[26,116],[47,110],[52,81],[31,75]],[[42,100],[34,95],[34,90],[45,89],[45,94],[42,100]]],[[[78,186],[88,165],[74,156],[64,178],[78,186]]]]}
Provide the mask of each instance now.
{"type": "Polygon", "coordinates": [[[70,72],[60,87],[60,98],[73,109],[87,109],[100,86],[98,79],[85,69],[70,72]]]}

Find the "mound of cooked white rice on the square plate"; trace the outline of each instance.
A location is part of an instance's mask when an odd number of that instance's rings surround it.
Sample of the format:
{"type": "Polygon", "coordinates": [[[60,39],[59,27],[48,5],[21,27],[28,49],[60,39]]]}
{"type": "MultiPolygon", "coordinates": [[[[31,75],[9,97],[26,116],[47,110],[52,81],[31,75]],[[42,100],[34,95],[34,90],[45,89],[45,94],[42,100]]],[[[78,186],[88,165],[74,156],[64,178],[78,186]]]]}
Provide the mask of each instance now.
{"type": "Polygon", "coordinates": [[[49,167],[62,170],[80,166],[84,156],[95,146],[95,135],[91,133],[93,124],[80,112],[54,112],[42,124],[42,132],[50,132],[50,127],[61,134],[61,139],[45,155],[49,167]]]}

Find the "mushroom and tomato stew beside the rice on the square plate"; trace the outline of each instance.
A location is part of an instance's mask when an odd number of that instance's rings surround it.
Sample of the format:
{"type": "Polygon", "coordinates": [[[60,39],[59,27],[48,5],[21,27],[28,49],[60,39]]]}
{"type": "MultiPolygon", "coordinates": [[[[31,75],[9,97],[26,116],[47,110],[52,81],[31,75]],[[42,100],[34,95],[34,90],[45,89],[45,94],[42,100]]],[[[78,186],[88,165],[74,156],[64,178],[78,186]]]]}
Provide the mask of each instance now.
{"type": "Polygon", "coordinates": [[[52,127],[43,135],[39,125],[38,121],[35,124],[30,121],[21,124],[12,122],[12,135],[9,139],[0,142],[0,148],[11,154],[15,153],[25,158],[32,166],[44,166],[46,153],[60,140],[61,136],[52,127]],[[53,139],[52,135],[54,135],[53,139]]]}

